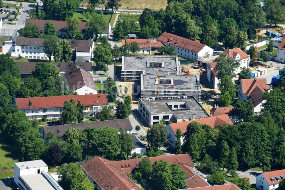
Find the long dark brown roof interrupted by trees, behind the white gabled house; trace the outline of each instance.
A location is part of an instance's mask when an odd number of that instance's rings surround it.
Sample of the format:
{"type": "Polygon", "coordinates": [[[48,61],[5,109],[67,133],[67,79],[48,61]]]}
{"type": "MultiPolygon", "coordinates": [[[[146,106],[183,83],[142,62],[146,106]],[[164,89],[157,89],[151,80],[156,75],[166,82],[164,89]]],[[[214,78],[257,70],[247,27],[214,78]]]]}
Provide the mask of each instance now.
{"type": "MultiPolygon", "coordinates": [[[[32,70],[34,70],[37,63],[38,62],[17,62],[16,64],[20,70],[20,74],[32,74],[32,70]]],[[[49,64],[48,62],[44,63],[49,64]]],[[[91,62],[83,62],[83,63],[51,62],[51,64],[56,65],[56,67],[60,72],[66,72],[74,66],[78,66],[86,71],[92,71],[91,62]]]]}

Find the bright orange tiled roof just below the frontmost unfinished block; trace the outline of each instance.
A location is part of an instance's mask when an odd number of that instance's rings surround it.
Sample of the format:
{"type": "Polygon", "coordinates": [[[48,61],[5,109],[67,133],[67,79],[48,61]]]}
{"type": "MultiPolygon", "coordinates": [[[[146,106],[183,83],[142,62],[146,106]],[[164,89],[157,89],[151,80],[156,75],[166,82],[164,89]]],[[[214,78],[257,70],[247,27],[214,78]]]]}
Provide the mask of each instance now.
{"type": "Polygon", "coordinates": [[[185,122],[172,123],[169,125],[172,128],[172,130],[174,131],[174,133],[176,133],[176,130],[179,128],[181,130],[182,134],[184,134],[186,132],[186,128],[187,128],[188,124],[190,124],[191,122],[198,122],[202,125],[207,124],[212,129],[215,128],[215,126],[222,125],[222,124],[233,125],[233,122],[231,121],[231,119],[229,118],[229,116],[227,114],[221,115],[221,116],[213,116],[213,117],[209,117],[209,118],[201,118],[198,120],[190,120],[190,121],[185,121],[185,122]]]}

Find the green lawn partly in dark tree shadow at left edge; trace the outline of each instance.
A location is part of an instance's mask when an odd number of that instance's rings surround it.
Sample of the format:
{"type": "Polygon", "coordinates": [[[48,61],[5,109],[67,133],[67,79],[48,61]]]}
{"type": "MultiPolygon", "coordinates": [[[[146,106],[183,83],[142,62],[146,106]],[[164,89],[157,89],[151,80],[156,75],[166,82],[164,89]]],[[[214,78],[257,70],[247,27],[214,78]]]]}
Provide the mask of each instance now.
{"type": "Polygon", "coordinates": [[[7,145],[0,133],[0,169],[13,168],[15,162],[18,162],[16,151],[13,146],[7,145]]]}

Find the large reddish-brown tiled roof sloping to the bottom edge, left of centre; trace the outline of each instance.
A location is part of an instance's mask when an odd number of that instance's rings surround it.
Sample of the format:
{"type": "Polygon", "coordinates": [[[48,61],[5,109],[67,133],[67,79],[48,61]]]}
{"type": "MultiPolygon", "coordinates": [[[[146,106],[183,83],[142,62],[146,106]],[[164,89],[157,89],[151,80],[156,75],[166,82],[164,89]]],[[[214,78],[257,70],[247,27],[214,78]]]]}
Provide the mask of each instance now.
{"type": "Polygon", "coordinates": [[[110,162],[110,160],[95,156],[84,162],[81,167],[103,190],[140,189],[123,171],[109,165],[110,162]]]}

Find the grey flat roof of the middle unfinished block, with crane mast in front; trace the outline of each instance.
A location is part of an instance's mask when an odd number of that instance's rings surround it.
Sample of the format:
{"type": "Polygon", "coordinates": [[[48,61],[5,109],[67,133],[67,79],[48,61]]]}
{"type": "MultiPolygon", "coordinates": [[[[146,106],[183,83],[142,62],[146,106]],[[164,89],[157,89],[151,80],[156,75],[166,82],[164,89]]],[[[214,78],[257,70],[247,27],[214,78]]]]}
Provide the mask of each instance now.
{"type": "MultiPolygon", "coordinates": [[[[160,76],[160,82],[162,80],[171,79],[171,84],[167,86],[166,84],[159,85],[160,90],[191,90],[200,92],[200,77],[199,75],[166,75],[166,77],[160,76]],[[172,84],[174,84],[174,88],[172,88],[172,84]]],[[[156,74],[148,74],[143,75],[143,86],[142,90],[157,90],[157,75],[156,74]]],[[[163,92],[161,91],[161,94],[163,92]]]]}

